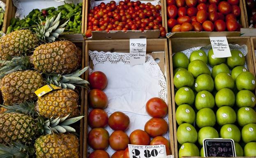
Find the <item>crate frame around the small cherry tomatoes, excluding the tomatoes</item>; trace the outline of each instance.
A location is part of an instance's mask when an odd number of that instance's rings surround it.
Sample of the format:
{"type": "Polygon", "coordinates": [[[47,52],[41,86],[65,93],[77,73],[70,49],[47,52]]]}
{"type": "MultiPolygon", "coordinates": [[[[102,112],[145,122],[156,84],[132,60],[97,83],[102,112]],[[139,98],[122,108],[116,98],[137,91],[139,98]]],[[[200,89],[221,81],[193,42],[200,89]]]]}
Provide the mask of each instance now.
{"type": "MultiPolygon", "coordinates": [[[[116,2],[119,2],[120,0],[115,0],[116,2]]],[[[136,0],[131,0],[136,1],[136,0]]],[[[153,0],[144,0],[151,2],[153,0]]],[[[161,16],[162,16],[162,25],[165,26],[165,20],[164,20],[164,0],[160,0],[161,2],[161,16]]],[[[87,30],[87,17],[90,11],[90,0],[86,1],[85,4],[85,24],[84,24],[84,33],[87,30]]],[[[167,31],[167,30],[166,30],[167,31]]],[[[138,39],[138,38],[147,38],[147,39],[156,39],[159,37],[159,30],[145,30],[144,32],[141,32],[140,30],[127,30],[127,32],[124,31],[92,31],[92,39],[138,39]]],[[[88,40],[90,40],[88,38],[88,40]]]]}

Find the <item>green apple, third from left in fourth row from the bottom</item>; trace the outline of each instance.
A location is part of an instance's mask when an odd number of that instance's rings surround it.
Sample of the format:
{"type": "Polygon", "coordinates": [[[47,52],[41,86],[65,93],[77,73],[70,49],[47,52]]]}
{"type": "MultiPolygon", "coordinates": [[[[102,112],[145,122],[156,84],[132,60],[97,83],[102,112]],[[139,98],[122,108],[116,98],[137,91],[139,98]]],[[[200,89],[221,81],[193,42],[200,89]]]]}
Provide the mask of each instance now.
{"type": "Polygon", "coordinates": [[[215,95],[215,103],[218,107],[231,106],[235,104],[235,94],[231,89],[223,88],[215,95]]]}

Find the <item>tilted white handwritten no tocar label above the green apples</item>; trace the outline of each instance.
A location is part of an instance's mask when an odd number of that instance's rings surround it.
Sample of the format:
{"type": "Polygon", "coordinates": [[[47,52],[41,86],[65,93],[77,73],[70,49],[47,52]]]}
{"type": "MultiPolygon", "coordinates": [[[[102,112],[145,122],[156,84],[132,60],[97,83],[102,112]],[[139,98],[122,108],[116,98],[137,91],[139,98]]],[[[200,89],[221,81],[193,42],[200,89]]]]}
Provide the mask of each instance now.
{"type": "Polygon", "coordinates": [[[215,58],[231,57],[227,37],[210,37],[210,41],[215,58]]]}

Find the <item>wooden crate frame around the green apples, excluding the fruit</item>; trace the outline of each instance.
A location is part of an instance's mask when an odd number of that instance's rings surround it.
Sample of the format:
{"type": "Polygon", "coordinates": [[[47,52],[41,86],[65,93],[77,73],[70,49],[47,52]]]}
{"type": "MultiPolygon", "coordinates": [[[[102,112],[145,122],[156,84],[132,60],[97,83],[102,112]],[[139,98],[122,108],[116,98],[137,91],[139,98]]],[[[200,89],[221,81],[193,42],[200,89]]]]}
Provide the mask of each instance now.
{"type": "MultiPolygon", "coordinates": [[[[248,53],[245,56],[248,70],[255,76],[255,55],[252,53],[251,39],[250,37],[227,37],[229,44],[238,44],[240,46],[247,45],[248,53]]],[[[169,58],[170,58],[170,70],[171,70],[171,100],[172,100],[172,111],[173,111],[173,133],[175,143],[175,158],[178,158],[178,141],[177,141],[177,123],[176,123],[176,109],[175,109],[175,91],[173,83],[173,53],[180,52],[193,47],[206,46],[210,44],[209,37],[198,37],[198,38],[172,38],[168,39],[169,43],[169,58]]],[[[199,149],[200,150],[200,149],[199,149]]],[[[191,158],[191,157],[190,157],[191,158]]],[[[193,157],[194,158],[194,157],[193,157]]]]}

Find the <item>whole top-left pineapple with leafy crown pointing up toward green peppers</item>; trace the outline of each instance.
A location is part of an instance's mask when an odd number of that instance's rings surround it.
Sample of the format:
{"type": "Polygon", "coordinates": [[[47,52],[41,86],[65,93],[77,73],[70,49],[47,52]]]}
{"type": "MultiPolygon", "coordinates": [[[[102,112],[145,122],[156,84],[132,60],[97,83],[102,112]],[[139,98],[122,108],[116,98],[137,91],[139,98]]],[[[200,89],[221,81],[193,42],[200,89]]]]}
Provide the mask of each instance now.
{"type": "Polygon", "coordinates": [[[64,32],[63,28],[67,22],[60,25],[60,14],[54,19],[46,19],[46,23],[38,25],[35,33],[31,30],[17,30],[0,39],[0,60],[9,60],[11,56],[20,56],[30,53],[40,42],[53,42],[59,34],[64,32]]]}

